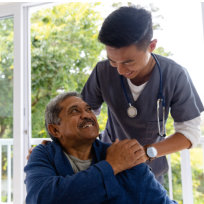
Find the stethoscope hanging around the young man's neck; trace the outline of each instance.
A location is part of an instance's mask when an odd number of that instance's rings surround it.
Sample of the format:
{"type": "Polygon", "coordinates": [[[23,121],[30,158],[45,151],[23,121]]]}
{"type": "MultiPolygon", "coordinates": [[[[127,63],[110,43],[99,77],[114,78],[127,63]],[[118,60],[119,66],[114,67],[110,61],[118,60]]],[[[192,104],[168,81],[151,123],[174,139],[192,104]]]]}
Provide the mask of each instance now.
{"type": "MultiPolygon", "coordinates": [[[[163,80],[162,80],[162,74],[161,74],[161,67],[160,67],[160,63],[157,59],[157,57],[155,56],[155,54],[151,53],[152,57],[154,58],[154,60],[156,61],[158,70],[159,70],[159,78],[160,78],[160,83],[159,83],[159,94],[157,96],[157,125],[158,125],[158,135],[161,137],[165,137],[166,136],[166,127],[165,127],[165,99],[164,99],[164,95],[162,93],[163,90],[163,80]],[[159,110],[160,110],[160,104],[162,104],[162,131],[160,128],[160,120],[159,120],[159,110]]],[[[123,92],[125,94],[125,98],[128,102],[128,109],[127,109],[127,114],[130,118],[134,118],[137,116],[137,109],[132,106],[130,98],[127,94],[127,90],[125,88],[124,85],[124,81],[123,81],[123,76],[120,75],[120,80],[121,80],[121,84],[122,84],[122,88],[123,88],[123,92]]]]}

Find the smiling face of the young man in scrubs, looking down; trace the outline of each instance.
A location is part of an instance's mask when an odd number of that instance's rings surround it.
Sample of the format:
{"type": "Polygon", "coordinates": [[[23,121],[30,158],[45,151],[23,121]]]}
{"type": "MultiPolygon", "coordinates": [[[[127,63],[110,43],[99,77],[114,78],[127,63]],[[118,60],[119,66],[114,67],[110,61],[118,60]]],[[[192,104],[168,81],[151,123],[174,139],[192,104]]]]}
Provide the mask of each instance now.
{"type": "Polygon", "coordinates": [[[138,49],[136,45],[122,48],[106,46],[106,51],[110,65],[115,67],[120,75],[129,79],[144,77],[151,57],[149,47],[144,51],[138,49]]]}

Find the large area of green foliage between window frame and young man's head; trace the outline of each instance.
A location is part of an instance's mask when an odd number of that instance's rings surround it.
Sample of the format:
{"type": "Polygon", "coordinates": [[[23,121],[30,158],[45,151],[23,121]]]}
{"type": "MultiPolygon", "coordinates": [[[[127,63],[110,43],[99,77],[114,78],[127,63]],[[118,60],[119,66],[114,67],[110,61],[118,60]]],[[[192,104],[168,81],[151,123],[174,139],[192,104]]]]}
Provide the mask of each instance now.
{"type": "Polygon", "coordinates": [[[81,92],[99,60],[102,18],[94,11],[97,5],[63,4],[31,18],[33,137],[46,137],[43,121],[49,100],[61,91],[81,92]]]}

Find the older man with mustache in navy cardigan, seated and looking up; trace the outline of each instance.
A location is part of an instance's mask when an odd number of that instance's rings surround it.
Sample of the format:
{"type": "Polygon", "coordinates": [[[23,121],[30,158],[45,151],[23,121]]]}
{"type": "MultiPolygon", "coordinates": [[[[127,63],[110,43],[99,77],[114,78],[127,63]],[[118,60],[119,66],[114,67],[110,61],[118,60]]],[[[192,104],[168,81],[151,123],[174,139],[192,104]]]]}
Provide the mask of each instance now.
{"type": "Polygon", "coordinates": [[[136,140],[110,146],[96,139],[96,117],[77,93],[51,100],[45,123],[53,142],[37,146],[30,155],[26,203],[175,203],[148,166],[137,165],[143,147],[136,140]]]}

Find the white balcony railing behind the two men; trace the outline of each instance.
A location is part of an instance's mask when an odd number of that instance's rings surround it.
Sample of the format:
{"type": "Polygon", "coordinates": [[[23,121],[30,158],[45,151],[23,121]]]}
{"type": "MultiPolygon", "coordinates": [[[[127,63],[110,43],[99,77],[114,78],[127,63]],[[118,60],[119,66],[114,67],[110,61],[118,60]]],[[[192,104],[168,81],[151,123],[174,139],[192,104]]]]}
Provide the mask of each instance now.
{"type": "MultiPolygon", "coordinates": [[[[31,145],[37,145],[42,142],[45,138],[32,138],[31,145]]],[[[46,138],[46,140],[49,140],[46,138]]],[[[203,164],[204,164],[204,137],[201,138],[200,144],[203,150],[203,164]]],[[[0,139],[0,203],[1,204],[13,204],[12,202],[12,177],[13,172],[13,139],[0,139]],[[3,155],[4,154],[4,155],[3,155]],[[7,168],[6,168],[6,179],[2,178],[2,158],[6,157],[7,168]],[[3,195],[3,196],[2,196],[3,195]],[[4,197],[4,198],[3,198],[4,197]],[[2,200],[3,199],[3,200],[2,200]]],[[[169,163],[169,196],[173,199],[173,184],[172,184],[172,168],[171,168],[171,157],[168,155],[169,163]]],[[[5,168],[5,167],[4,167],[5,168]]],[[[203,166],[204,171],[204,166],[203,166]]],[[[182,180],[182,193],[183,193],[183,204],[193,204],[193,190],[192,190],[192,175],[191,175],[191,163],[189,150],[181,151],[181,180],[182,180]]]]}

